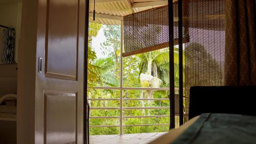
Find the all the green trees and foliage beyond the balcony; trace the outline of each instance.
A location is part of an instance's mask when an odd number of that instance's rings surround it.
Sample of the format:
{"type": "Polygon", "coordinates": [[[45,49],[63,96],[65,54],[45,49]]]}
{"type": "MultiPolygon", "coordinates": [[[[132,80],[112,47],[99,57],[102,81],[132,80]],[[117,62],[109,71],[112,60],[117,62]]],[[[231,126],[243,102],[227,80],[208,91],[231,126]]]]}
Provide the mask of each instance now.
{"type": "MultiPolygon", "coordinates": [[[[101,26],[90,23],[89,54],[88,54],[88,85],[118,87],[120,79],[120,50],[121,50],[121,32],[120,26],[101,26]],[[106,58],[97,58],[92,49],[91,40],[97,36],[100,29],[103,29],[106,41],[101,43],[100,49],[106,58]]],[[[178,80],[178,48],[175,47],[175,77],[178,80]]],[[[162,81],[160,87],[169,87],[169,50],[168,48],[134,55],[123,58],[123,87],[140,87],[140,74],[149,73],[162,81]],[[150,63],[150,65],[148,64],[150,63]],[[151,68],[150,70],[148,68],[151,68]]],[[[178,84],[178,83],[177,83],[178,84]]],[[[178,85],[175,85],[178,87],[178,85]]],[[[150,84],[148,85],[150,86],[150,84]]],[[[89,98],[120,98],[120,90],[99,90],[88,91],[89,98]]],[[[141,98],[143,90],[123,90],[123,98],[137,99],[141,98]]],[[[152,91],[153,98],[168,98],[169,91],[152,91]]],[[[169,101],[131,101],[122,102],[123,107],[168,107],[169,101]]],[[[90,101],[91,107],[120,107],[119,100],[112,101],[90,101]]],[[[123,116],[141,116],[141,115],[169,115],[168,109],[129,109],[123,110],[123,116]]],[[[90,116],[120,116],[120,110],[91,110],[90,116]]],[[[123,125],[140,124],[168,124],[169,117],[144,117],[144,118],[123,118],[123,125]]],[[[117,125],[119,118],[91,118],[91,126],[117,125]]],[[[168,125],[161,126],[127,126],[123,127],[123,133],[147,133],[147,132],[166,132],[168,125]]],[[[119,134],[119,127],[91,127],[91,135],[119,134]]]]}

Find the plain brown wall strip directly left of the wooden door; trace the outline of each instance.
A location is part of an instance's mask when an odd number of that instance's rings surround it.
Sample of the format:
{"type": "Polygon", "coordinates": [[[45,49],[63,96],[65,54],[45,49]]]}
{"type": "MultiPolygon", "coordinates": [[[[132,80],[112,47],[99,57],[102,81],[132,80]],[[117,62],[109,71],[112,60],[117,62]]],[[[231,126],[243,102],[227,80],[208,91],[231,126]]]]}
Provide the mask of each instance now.
{"type": "MultiPolygon", "coordinates": [[[[44,1],[46,2],[46,1],[44,1]]],[[[17,143],[35,141],[35,74],[38,1],[23,0],[22,28],[18,51],[17,143]]]]}

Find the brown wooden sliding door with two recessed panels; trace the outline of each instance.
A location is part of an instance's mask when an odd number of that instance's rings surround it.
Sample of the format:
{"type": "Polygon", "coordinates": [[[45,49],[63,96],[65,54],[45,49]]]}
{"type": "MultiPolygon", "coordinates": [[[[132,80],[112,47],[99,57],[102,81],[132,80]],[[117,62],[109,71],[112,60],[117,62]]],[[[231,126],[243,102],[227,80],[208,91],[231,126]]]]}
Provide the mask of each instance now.
{"type": "Polygon", "coordinates": [[[85,11],[85,1],[38,1],[35,143],[83,142],[85,11]]]}

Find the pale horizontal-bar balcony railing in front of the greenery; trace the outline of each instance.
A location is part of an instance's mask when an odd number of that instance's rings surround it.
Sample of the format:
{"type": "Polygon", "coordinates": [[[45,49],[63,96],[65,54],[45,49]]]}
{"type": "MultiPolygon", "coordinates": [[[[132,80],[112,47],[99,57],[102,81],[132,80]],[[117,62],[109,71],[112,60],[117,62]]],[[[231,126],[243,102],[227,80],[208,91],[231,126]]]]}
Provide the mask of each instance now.
{"type": "MultiPolygon", "coordinates": [[[[169,109],[169,107],[123,107],[123,101],[169,101],[169,99],[127,99],[123,98],[123,90],[169,90],[169,88],[142,88],[142,87],[93,87],[93,89],[111,89],[111,90],[120,90],[120,98],[88,98],[88,101],[119,101],[119,107],[91,107],[91,110],[120,110],[119,116],[90,116],[89,118],[119,118],[119,125],[99,125],[99,126],[89,126],[93,127],[119,127],[119,134],[123,134],[123,127],[136,127],[136,126],[159,126],[159,125],[169,125],[169,124],[139,124],[139,125],[123,125],[123,118],[143,118],[143,117],[169,117],[170,115],[138,115],[138,116],[123,116],[123,110],[127,109],[169,109]]],[[[179,88],[175,88],[175,93],[179,93],[179,88]]],[[[178,126],[178,118],[176,115],[176,123],[178,126]]]]}

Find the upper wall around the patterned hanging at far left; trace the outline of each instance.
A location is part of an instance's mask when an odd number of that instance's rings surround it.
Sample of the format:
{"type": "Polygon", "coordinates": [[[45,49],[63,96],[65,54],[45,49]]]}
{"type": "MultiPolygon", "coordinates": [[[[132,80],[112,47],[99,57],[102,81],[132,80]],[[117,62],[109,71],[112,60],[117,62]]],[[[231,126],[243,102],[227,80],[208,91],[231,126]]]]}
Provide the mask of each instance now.
{"type": "MultiPolygon", "coordinates": [[[[18,45],[22,21],[22,3],[0,5],[0,25],[15,29],[15,61],[18,62],[18,45]]],[[[0,66],[1,69],[1,66],[0,66]]]]}

